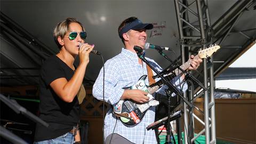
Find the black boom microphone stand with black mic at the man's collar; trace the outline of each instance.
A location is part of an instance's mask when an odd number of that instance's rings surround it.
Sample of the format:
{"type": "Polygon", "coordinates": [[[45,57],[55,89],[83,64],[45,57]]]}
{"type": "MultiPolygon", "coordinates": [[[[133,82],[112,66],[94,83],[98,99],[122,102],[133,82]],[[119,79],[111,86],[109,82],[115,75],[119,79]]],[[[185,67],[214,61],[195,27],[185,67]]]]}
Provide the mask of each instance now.
{"type": "MultiPolygon", "coordinates": [[[[142,54],[143,50],[141,49],[141,47],[139,47],[139,46],[134,46],[133,49],[136,51],[138,57],[139,57],[143,62],[147,63],[147,65],[148,65],[152,70],[154,70],[155,73],[156,73],[159,77],[162,78],[163,83],[166,84],[166,85],[169,87],[169,89],[171,89],[175,94],[179,95],[179,97],[180,97],[184,102],[186,102],[189,107],[193,107],[193,106],[191,105],[191,103],[190,103],[187,99],[185,99],[184,97],[182,97],[182,95],[180,94],[180,92],[177,90],[177,88],[176,88],[175,86],[173,86],[169,81],[167,81],[161,74],[158,73],[158,71],[157,71],[153,66],[151,66],[151,65],[149,64],[149,62],[145,59],[145,57],[144,57],[143,54],[142,54]]],[[[168,97],[168,105],[169,105],[169,107],[168,107],[168,117],[167,117],[167,127],[166,127],[166,129],[167,129],[167,137],[166,137],[167,140],[166,140],[166,143],[171,143],[171,139],[170,139],[170,138],[171,138],[171,133],[170,133],[170,113],[171,113],[171,111],[170,111],[170,105],[171,105],[171,100],[170,100],[170,97],[171,97],[171,93],[172,93],[172,92],[171,92],[169,89],[165,90],[166,95],[167,95],[167,97],[168,97]]]]}

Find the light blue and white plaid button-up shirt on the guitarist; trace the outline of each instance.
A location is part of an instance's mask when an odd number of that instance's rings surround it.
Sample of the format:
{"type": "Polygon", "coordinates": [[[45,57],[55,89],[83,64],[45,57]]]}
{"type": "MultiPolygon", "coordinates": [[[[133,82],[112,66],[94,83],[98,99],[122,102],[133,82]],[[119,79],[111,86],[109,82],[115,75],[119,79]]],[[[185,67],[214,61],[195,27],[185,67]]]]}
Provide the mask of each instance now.
{"type": "MultiPolygon", "coordinates": [[[[158,71],[162,71],[162,68],[157,65],[154,60],[146,58],[150,65],[156,68],[158,71]]],[[[110,105],[115,105],[124,92],[123,87],[129,87],[135,84],[142,75],[147,75],[146,63],[142,62],[142,65],[138,62],[138,56],[136,53],[126,49],[122,49],[122,52],[116,55],[116,57],[109,59],[105,63],[105,101],[110,105]],[[142,66],[143,65],[143,66],[142,66]]],[[[153,71],[153,74],[155,72],[153,71]]],[[[180,81],[175,77],[176,84],[180,81]]],[[[156,79],[158,81],[159,79],[156,79]]],[[[146,79],[148,85],[148,78],[146,79]]],[[[166,86],[159,89],[157,92],[165,94],[166,86]]],[[[187,84],[183,86],[183,91],[187,89],[187,84]]],[[[93,96],[99,100],[103,100],[103,68],[100,70],[100,74],[93,85],[93,96]]],[[[173,95],[173,94],[172,94],[173,95]]],[[[154,94],[153,94],[154,97],[154,94]]],[[[125,126],[113,115],[113,109],[109,109],[104,124],[104,138],[111,133],[117,133],[124,138],[130,140],[133,143],[157,143],[155,131],[147,131],[146,127],[155,121],[155,107],[150,107],[146,112],[142,121],[135,126],[125,126]]]]}

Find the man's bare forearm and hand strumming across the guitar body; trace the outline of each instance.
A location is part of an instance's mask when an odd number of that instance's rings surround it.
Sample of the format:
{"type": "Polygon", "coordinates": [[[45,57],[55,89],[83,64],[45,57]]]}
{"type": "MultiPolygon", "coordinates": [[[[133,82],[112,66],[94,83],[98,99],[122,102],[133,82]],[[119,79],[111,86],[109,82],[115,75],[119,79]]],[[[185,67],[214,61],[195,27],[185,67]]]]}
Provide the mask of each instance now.
{"type": "Polygon", "coordinates": [[[124,93],[122,95],[123,99],[132,99],[139,103],[145,103],[149,100],[149,97],[147,97],[147,92],[142,90],[124,90],[124,93]]]}

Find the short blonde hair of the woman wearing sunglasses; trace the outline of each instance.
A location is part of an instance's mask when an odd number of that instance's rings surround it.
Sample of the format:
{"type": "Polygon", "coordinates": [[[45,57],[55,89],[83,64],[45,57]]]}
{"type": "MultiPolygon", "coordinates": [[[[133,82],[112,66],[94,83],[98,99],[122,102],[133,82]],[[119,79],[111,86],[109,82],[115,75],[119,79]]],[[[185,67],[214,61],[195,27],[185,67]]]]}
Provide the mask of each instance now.
{"type": "Polygon", "coordinates": [[[75,18],[67,18],[67,19],[59,22],[58,25],[55,27],[55,29],[53,31],[54,41],[58,45],[59,48],[61,48],[61,45],[58,42],[58,37],[60,36],[61,38],[63,38],[65,36],[65,34],[68,31],[70,31],[69,30],[69,25],[72,22],[78,23],[82,27],[82,29],[84,31],[84,27],[83,27],[82,23],[77,21],[75,18]]]}

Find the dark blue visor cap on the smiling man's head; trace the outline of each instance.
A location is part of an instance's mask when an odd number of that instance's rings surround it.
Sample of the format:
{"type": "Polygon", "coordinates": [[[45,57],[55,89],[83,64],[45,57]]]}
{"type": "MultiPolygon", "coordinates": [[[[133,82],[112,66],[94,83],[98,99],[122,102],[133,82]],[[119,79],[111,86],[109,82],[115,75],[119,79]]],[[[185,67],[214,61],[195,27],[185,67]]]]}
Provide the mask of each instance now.
{"type": "Polygon", "coordinates": [[[151,23],[142,23],[139,19],[129,23],[126,25],[120,32],[119,37],[122,38],[123,34],[129,31],[130,29],[133,30],[140,30],[140,29],[153,29],[153,25],[151,23]]]}

